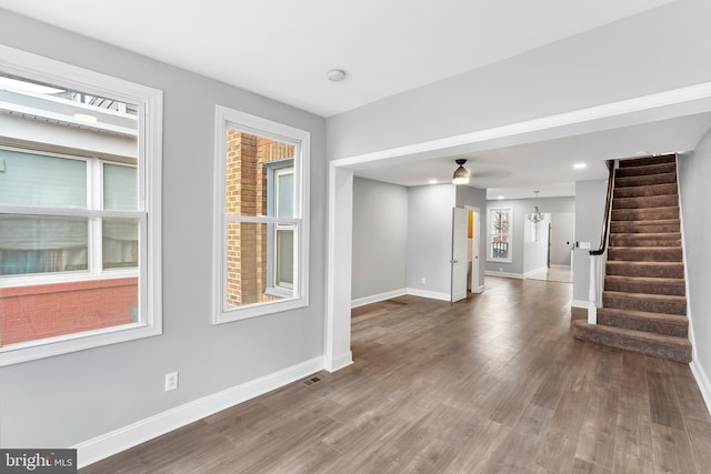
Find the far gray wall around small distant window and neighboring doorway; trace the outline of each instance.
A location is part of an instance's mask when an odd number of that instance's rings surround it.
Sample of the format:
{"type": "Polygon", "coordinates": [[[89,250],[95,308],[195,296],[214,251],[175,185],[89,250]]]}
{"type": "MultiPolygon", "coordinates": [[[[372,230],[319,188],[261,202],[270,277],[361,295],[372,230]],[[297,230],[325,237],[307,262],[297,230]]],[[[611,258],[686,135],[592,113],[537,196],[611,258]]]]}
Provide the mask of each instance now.
{"type": "MultiPolygon", "coordinates": [[[[489,262],[487,261],[487,271],[490,272],[499,272],[502,271],[504,273],[513,273],[517,275],[522,275],[527,271],[534,270],[532,266],[533,263],[529,265],[524,265],[525,260],[525,229],[527,221],[525,214],[533,212],[533,206],[538,205],[540,211],[543,213],[561,213],[561,212],[573,212],[574,211],[575,200],[573,198],[540,198],[540,199],[515,199],[515,200],[491,200],[487,201],[487,209],[492,208],[513,208],[513,242],[511,245],[511,263],[505,262],[489,262]],[[501,270],[499,270],[501,269],[501,270]]],[[[488,218],[487,218],[488,219],[488,218]]],[[[487,224],[484,224],[487,225],[487,224]]],[[[488,232],[488,229],[487,229],[488,232]]],[[[489,236],[487,235],[488,240],[489,236]]],[[[545,240],[545,230],[541,228],[541,240],[545,240]]],[[[537,249],[533,246],[532,249],[537,249]]],[[[488,250],[485,249],[483,255],[488,255],[488,250]]],[[[535,250],[533,250],[537,252],[535,250]]],[[[539,265],[539,266],[544,266],[539,265]]]]}

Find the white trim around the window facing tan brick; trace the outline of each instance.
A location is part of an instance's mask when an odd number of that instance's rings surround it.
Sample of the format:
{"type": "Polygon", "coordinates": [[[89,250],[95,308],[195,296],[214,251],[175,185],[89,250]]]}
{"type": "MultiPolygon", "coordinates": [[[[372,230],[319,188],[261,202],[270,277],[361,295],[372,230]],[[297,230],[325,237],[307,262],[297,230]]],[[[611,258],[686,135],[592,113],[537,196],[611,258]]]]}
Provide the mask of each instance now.
{"type": "MultiPolygon", "coordinates": [[[[249,317],[273,314],[277,312],[296,310],[309,305],[309,162],[311,133],[274,122],[261,117],[252,115],[239,110],[216,105],[214,120],[214,198],[213,198],[213,275],[212,275],[212,323],[222,324],[241,321],[249,317]],[[248,304],[226,310],[224,295],[227,293],[226,242],[224,231],[224,162],[226,137],[228,128],[236,128],[259,137],[273,138],[286,142],[299,143],[299,153],[293,158],[294,167],[294,296],[278,301],[248,304]],[[300,219],[299,219],[300,216],[300,219]]],[[[242,222],[277,223],[276,220],[247,216],[242,222]]]]}

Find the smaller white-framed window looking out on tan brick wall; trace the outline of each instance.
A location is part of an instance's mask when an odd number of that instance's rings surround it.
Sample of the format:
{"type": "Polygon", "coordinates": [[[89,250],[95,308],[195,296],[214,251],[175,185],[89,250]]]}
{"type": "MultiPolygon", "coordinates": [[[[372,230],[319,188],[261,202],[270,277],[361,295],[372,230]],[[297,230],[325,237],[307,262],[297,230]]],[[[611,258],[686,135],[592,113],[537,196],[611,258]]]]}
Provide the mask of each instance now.
{"type": "Polygon", "coordinates": [[[217,108],[216,323],[308,304],[309,133],[217,108]]]}

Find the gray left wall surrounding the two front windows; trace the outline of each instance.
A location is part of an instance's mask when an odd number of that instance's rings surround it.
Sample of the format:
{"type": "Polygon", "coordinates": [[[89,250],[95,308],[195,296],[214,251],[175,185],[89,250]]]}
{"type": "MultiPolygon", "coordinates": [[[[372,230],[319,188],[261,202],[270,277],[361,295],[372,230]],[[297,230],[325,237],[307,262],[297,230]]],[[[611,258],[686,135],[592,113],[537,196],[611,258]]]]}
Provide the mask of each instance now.
{"type": "Polygon", "coordinates": [[[0,43],[164,91],[163,334],[0,367],[0,445],[70,446],[322,355],[323,119],[4,10],[0,24],[0,43]],[[309,307],[211,324],[216,103],[311,132],[309,307]]]}

